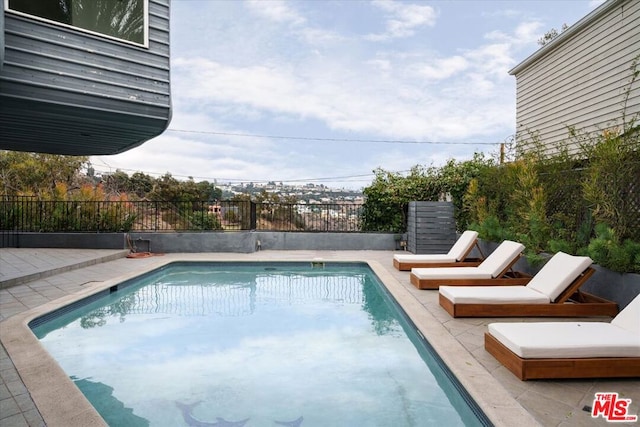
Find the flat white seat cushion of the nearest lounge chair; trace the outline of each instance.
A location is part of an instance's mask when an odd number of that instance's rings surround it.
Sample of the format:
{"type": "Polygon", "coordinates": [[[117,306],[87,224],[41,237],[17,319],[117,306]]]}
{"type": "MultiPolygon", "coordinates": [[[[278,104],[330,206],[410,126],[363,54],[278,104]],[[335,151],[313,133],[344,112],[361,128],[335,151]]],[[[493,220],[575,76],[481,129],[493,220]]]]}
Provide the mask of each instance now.
{"type": "Polygon", "coordinates": [[[488,330],[523,359],[640,357],[640,335],[604,322],[491,323],[488,330]]]}

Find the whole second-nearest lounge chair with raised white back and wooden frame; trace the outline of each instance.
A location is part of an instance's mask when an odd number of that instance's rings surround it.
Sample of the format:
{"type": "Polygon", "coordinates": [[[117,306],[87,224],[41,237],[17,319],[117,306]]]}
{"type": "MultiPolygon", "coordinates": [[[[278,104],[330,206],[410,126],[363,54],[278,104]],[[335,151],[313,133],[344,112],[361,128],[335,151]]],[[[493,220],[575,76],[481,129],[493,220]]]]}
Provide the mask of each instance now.
{"type": "Polygon", "coordinates": [[[526,286],[441,286],[440,305],[453,317],[615,316],[615,303],[579,292],[592,262],[558,252],[526,286]]]}

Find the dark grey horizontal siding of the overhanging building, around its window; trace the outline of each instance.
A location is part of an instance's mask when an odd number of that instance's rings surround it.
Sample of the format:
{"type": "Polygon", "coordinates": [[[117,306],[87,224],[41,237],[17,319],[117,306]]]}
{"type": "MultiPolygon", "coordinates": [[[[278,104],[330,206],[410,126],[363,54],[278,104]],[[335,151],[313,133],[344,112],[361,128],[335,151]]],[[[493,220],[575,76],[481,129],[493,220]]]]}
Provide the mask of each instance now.
{"type": "Polygon", "coordinates": [[[0,148],[116,154],[171,117],[169,0],[149,1],[148,47],[5,12],[0,148]]]}

